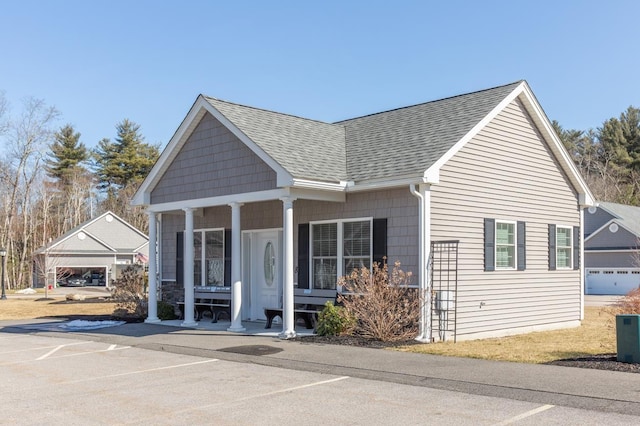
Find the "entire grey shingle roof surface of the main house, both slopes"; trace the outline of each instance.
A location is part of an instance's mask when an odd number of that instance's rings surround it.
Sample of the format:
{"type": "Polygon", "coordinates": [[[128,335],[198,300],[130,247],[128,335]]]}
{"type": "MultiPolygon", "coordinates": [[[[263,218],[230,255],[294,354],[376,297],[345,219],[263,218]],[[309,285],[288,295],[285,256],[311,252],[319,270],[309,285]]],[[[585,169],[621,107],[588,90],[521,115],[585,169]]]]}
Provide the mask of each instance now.
{"type": "Polygon", "coordinates": [[[358,182],[424,173],[520,83],[333,124],[205,99],[293,177],[358,182]]]}

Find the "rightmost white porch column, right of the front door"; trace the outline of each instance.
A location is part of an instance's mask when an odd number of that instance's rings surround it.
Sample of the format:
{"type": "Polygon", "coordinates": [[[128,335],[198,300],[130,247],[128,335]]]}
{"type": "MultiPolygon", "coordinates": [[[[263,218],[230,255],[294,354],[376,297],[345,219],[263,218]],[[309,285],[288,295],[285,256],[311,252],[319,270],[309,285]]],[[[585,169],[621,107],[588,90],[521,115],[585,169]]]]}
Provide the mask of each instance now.
{"type": "Polygon", "coordinates": [[[282,333],[279,337],[296,337],[295,314],[293,311],[293,201],[292,197],[282,198],[282,230],[284,242],[284,262],[282,281],[282,333]]]}

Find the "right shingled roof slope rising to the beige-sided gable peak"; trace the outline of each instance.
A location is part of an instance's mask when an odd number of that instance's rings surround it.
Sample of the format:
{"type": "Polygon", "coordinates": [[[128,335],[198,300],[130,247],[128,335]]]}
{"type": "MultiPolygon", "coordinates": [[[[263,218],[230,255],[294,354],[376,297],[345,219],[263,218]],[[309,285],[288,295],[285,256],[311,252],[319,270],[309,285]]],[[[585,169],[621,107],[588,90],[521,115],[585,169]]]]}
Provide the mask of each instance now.
{"type": "Polygon", "coordinates": [[[351,180],[422,174],[520,82],[342,121],[351,180]]]}

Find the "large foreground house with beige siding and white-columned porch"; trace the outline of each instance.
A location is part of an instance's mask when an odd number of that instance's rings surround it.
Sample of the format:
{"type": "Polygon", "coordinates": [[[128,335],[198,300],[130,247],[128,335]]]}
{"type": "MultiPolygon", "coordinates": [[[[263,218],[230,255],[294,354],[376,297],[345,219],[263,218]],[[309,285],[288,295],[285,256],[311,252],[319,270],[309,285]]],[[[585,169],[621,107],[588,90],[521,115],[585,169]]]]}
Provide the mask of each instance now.
{"type": "Polygon", "coordinates": [[[444,338],[429,320],[447,315],[457,339],[582,319],[592,195],[524,81],[338,123],[201,95],[133,204],[158,239],[151,297],[158,276],[163,297],[184,297],[184,325],[194,285],[231,286],[229,330],[282,306],[294,336],[295,287],[336,289],[384,256],[420,288],[433,273],[440,311],[423,312],[422,341],[444,338]]]}

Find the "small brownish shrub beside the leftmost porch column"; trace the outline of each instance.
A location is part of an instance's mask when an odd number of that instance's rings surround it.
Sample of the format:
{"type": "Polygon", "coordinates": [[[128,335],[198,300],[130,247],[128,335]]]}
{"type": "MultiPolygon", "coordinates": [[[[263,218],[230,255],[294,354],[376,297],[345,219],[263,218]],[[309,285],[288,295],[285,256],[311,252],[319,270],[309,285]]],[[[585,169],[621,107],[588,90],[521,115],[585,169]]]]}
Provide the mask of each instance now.
{"type": "Polygon", "coordinates": [[[122,318],[144,318],[147,316],[145,277],[139,267],[128,266],[119,279],[114,281],[111,297],[116,302],[114,315],[122,318]]]}

